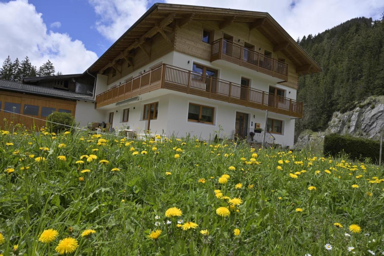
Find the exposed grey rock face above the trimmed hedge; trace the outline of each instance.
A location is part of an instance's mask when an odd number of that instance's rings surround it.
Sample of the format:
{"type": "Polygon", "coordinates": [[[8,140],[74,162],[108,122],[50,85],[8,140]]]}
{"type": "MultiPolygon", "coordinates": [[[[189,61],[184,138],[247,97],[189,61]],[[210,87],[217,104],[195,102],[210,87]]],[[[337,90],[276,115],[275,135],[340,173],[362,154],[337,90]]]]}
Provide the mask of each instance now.
{"type": "Polygon", "coordinates": [[[369,97],[354,110],[334,112],[324,132],[303,131],[295,144],[298,148],[323,144],[329,133],[379,139],[384,131],[384,96],[369,97]]]}

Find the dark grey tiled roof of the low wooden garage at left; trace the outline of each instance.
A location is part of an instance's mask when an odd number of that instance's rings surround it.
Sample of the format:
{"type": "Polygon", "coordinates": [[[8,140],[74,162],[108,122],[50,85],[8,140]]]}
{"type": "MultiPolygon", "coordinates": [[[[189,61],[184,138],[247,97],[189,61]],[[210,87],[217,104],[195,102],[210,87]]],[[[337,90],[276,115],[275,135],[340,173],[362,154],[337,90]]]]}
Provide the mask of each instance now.
{"type": "Polygon", "coordinates": [[[0,80],[0,90],[2,89],[36,95],[51,96],[55,98],[94,101],[93,96],[87,94],[75,93],[73,91],[65,91],[54,88],[47,88],[37,85],[27,85],[25,83],[19,83],[14,81],[0,80]]]}

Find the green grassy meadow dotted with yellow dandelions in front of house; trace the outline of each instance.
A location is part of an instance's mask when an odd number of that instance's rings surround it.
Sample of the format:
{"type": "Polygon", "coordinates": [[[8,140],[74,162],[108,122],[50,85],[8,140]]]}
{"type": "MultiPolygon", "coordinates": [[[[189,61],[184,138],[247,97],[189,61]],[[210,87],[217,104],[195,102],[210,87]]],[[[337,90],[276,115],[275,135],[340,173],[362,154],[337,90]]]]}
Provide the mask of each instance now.
{"type": "Polygon", "coordinates": [[[3,255],[384,251],[384,170],[369,163],[18,126],[0,132],[0,159],[3,255]]]}

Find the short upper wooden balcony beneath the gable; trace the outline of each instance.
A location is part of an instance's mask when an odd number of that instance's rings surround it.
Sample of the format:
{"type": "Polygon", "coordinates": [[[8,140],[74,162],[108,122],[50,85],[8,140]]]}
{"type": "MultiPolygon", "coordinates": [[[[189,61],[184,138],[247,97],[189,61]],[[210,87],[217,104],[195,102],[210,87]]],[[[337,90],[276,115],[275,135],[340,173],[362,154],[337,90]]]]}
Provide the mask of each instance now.
{"type": "Polygon", "coordinates": [[[212,43],[211,62],[225,60],[288,81],[288,64],[220,38],[212,43]]]}

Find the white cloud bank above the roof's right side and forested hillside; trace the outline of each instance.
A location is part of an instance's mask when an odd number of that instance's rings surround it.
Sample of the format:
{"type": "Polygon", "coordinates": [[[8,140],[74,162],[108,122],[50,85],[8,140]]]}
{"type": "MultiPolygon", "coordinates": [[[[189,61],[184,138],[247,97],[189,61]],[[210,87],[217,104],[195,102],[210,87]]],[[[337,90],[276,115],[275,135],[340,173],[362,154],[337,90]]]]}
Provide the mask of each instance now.
{"type": "Polygon", "coordinates": [[[204,5],[268,12],[291,37],[317,34],[351,18],[378,19],[384,9],[382,0],[166,0],[167,3],[204,5]]]}

